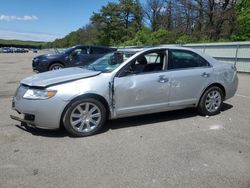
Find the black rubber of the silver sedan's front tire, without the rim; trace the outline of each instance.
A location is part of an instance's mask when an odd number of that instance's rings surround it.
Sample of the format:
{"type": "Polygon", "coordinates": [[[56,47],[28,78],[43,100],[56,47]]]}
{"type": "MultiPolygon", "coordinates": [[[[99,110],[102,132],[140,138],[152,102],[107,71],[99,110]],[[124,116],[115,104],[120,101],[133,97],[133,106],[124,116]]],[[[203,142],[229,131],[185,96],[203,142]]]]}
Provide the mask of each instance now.
{"type": "Polygon", "coordinates": [[[63,125],[64,125],[65,129],[72,136],[75,136],[75,137],[84,137],[84,136],[94,135],[94,134],[98,133],[98,131],[102,128],[102,126],[104,125],[105,122],[106,122],[106,109],[100,101],[98,101],[94,98],[83,98],[83,99],[79,99],[79,100],[71,102],[68,105],[68,107],[66,109],[66,113],[64,114],[64,117],[63,117],[63,125]],[[84,103],[84,102],[89,102],[89,103],[95,104],[101,111],[101,121],[100,121],[99,125],[95,129],[93,129],[92,131],[90,131],[88,133],[77,132],[71,126],[71,123],[70,123],[70,115],[71,115],[72,111],[74,110],[74,108],[76,106],[78,106],[79,104],[84,103]]]}

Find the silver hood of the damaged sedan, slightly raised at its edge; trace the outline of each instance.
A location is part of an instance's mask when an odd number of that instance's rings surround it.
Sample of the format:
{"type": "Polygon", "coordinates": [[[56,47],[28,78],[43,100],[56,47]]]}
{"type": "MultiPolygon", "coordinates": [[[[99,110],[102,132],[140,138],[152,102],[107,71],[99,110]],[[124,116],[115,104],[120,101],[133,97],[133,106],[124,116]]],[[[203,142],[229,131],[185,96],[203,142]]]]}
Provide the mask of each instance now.
{"type": "Polygon", "coordinates": [[[36,74],[34,76],[23,79],[21,81],[21,84],[33,87],[48,87],[59,83],[97,76],[100,73],[100,71],[91,71],[79,67],[66,68],[36,74]]]}

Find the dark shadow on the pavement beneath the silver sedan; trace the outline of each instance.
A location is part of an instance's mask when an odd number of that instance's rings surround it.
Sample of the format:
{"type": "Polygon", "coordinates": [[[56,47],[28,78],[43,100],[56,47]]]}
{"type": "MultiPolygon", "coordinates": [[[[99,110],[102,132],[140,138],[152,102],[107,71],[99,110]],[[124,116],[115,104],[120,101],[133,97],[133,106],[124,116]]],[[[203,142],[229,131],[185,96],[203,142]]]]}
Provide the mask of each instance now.
{"type": "MultiPolygon", "coordinates": [[[[224,103],[221,109],[221,112],[227,111],[231,109],[233,106],[228,103],[224,103]]],[[[160,122],[165,121],[173,121],[173,120],[180,120],[180,119],[187,119],[191,117],[200,116],[195,108],[187,108],[182,110],[175,110],[175,111],[168,111],[168,112],[161,112],[161,113],[154,113],[154,114],[147,114],[147,115],[140,115],[140,116],[133,116],[133,117],[126,117],[120,118],[115,120],[109,120],[104,128],[98,133],[104,133],[109,130],[115,129],[122,129],[128,127],[135,127],[135,126],[143,126],[147,124],[157,124],[160,122]]],[[[67,131],[62,127],[57,130],[45,130],[39,129],[34,127],[29,127],[25,125],[16,125],[17,128],[31,133],[34,136],[43,136],[43,137],[71,137],[67,131]]]]}

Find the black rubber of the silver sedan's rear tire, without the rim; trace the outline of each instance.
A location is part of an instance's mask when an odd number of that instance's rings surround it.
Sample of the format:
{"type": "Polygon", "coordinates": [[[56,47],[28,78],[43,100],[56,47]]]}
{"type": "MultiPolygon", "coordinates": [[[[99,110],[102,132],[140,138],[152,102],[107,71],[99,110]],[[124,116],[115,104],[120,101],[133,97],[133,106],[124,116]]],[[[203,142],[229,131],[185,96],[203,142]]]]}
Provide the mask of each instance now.
{"type": "Polygon", "coordinates": [[[222,90],[217,87],[217,86],[212,86],[210,88],[208,88],[202,95],[201,99],[200,99],[200,103],[199,103],[199,106],[198,106],[198,110],[199,112],[202,114],[202,115],[209,115],[209,116],[213,116],[213,115],[216,115],[216,114],[219,114],[220,111],[221,111],[221,108],[222,108],[222,105],[223,105],[223,93],[222,93],[222,90]],[[207,98],[207,95],[208,93],[210,93],[211,91],[213,90],[216,90],[220,93],[221,95],[221,103],[220,103],[220,106],[219,108],[214,111],[214,112],[209,112],[206,108],[206,105],[205,105],[205,102],[206,102],[206,98],[207,98]]]}

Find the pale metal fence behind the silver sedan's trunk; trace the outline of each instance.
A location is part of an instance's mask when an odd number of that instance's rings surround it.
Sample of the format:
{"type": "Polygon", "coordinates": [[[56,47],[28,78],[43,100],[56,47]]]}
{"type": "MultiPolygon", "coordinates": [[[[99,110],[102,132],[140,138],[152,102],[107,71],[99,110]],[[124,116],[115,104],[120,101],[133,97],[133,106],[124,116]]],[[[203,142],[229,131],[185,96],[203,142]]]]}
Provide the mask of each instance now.
{"type": "Polygon", "coordinates": [[[250,73],[250,41],[185,44],[183,47],[200,50],[219,61],[235,64],[240,72],[250,73]]]}

